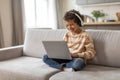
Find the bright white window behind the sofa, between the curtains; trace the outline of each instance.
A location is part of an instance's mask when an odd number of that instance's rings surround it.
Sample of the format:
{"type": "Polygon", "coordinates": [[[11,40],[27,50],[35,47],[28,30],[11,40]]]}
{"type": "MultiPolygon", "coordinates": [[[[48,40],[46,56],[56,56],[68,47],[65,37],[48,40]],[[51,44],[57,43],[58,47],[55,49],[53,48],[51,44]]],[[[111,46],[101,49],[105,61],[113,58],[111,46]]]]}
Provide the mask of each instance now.
{"type": "Polygon", "coordinates": [[[24,0],[25,27],[51,28],[48,6],[48,0],[24,0]]]}

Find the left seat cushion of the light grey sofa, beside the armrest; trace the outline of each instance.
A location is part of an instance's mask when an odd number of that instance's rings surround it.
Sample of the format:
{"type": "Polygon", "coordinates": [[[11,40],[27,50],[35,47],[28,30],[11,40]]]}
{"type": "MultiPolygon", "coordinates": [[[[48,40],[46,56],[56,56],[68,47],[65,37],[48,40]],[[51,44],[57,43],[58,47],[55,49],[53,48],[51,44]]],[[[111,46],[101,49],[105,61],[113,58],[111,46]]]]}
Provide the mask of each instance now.
{"type": "Polygon", "coordinates": [[[48,80],[57,72],[39,58],[19,57],[0,62],[0,80],[48,80]]]}

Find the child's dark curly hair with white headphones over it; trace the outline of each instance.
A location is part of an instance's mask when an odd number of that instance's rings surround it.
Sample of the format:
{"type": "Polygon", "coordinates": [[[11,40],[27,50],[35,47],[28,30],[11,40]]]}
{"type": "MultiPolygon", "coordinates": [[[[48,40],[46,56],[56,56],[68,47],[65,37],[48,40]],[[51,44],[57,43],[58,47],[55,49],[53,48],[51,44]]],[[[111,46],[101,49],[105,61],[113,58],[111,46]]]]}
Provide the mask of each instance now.
{"type": "Polygon", "coordinates": [[[63,17],[63,19],[65,21],[68,21],[68,20],[74,20],[75,23],[77,23],[80,27],[83,26],[83,20],[84,20],[84,16],[81,15],[79,13],[79,11],[76,11],[76,10],[70,10],[70,11],[67,11],[63,17]]]}

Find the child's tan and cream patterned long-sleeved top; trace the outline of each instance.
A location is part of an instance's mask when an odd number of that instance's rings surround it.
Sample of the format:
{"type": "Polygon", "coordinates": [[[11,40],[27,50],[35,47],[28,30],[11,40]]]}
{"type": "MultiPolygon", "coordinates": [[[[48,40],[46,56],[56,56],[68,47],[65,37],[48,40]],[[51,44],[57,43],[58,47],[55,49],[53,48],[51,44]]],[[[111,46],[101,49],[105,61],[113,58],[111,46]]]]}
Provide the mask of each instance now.
{"type": "Polygon", "coordinates": [[[67,42],[70,53],[77,53],[79,57],[85,60],[92,59],[96,54],[92,38],[83,29],[76,35],[67,32],[64,40],[67,42]]]}

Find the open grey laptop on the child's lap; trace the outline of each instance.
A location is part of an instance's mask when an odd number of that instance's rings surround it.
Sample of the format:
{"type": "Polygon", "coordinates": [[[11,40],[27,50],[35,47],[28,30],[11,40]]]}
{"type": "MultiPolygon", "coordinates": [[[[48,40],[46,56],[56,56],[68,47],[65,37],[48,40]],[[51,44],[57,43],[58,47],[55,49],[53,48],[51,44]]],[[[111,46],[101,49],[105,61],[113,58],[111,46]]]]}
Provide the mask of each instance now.
{"type": "Polygon", "coordinates": [[[49,58],[71,60],[67,43],[65,41],[42,41],[49,58]]]}

